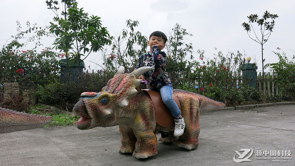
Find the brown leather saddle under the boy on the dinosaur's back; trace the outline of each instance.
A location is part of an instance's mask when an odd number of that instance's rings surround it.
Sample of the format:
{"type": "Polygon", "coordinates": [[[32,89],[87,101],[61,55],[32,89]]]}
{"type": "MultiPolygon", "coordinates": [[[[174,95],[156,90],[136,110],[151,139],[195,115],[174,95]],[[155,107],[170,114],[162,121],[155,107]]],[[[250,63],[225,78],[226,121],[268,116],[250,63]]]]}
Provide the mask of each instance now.
{"type": "MultiPolygon", "coordinates": [[[[163,103],[160,92],[148,89],[142,89],[142,91],[146,91],[153,101],[157,123],[163,127],[174,125],[174,117],[172,116],[167,106],[163,103]]],[[[178,98],[174,94],[172,94],[172,98],[181,110],[178,98]]]]}

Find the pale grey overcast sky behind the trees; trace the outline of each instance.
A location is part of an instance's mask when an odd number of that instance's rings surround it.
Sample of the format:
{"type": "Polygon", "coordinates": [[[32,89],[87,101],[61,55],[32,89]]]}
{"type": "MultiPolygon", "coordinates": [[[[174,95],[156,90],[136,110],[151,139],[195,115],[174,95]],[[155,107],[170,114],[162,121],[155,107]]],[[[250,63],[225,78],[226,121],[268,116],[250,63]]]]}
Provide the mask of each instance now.
{"type": "MultiPolygon", "coordinates": [[[[139,26],[135,31],[149,36],[153,31],[160,30],[166,34],[179,23],[193,36],[188,37],[194,48],[194,56],[199,60],[196,51],[205,50],[207,57],[217,51],[226,54],[228,51],[247,54],[256,60],[258,71],[261,70],[261,46],[251,40],[242,27],[248,22],[247,16],[258,14],[259,17],[267,10],[277,14],[275,28],[264,45],[266,63],[278,61],[272,51],[280,47],[289,59],[295,54],[295,1],[294,0],[77,0],[78,7],[84,8],[90,15],[101,17],[103,26],[110,35],[118,34],[126,28],[126,20],[137,20],[139,26]],[[217,51],[214,49],[217,48],[217,51]]],[[[47,9],[45,0],[1,0],[0,1],[0,44],[4,45],[11,35],[16,34],[16,20],[23,27],[27,20],[38,26],[48,25],[54,13],[47,9]]],[[[256,24],[255,24],[256,26],[256,24]]],[[[253,32],[252,32],[253,33],[253,32]]],[[[254,34],[251,34],[254,35],[254,34]]],[[[45,46],[52,47],[53,39],[43,39],[45,46]]],[[[164,49],[165,51],[165,49],[164,49]]],[[[91,69],[101,69],[92,62],[100,63],[101,53],[89,56],[85,61],[91,69]]]]}

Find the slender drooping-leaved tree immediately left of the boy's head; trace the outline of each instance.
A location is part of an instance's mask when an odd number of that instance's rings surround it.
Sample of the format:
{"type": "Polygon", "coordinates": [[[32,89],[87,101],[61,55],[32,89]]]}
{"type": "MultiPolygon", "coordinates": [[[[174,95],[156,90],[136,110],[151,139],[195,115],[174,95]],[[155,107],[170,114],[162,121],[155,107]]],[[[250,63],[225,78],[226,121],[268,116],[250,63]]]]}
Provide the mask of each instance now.
{"type": "Polygon", "coordinates": [[[134,32],[134,28],[139,24],[138,21],[128,19],[126,24],[127,29],[123,29],[116,37],[112,54],[110,54],[109,58],[106,58],[106,62],[107,65],[112,67],[124,66],[126,69],[133,69],[139,56],[147,51],[147,37],[143,36],[139,31],[134,32]],[[137,46],[140,48],[136,48],[137,46]],[[113,62],[115,62],[115,66],[113,62]]]}

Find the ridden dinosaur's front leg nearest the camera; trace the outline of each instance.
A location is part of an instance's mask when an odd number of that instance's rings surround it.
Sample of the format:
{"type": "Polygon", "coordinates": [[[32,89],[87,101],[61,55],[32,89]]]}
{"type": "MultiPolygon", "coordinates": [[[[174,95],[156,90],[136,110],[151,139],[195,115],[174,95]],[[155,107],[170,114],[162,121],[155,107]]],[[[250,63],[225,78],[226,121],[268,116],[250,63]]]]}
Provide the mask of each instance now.
{"type": "Polygon", "coordinates": [[[158,154],[157,137],[153,130],[134,130],[137,138],[133,157],[148,158],[158,154]]]}

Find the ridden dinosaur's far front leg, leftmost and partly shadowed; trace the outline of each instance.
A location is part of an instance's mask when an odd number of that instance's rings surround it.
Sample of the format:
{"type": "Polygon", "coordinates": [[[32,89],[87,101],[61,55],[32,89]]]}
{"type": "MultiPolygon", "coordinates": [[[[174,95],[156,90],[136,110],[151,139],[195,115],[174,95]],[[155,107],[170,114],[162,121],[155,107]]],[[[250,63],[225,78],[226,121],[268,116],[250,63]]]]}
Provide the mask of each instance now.
{"type": "Polygon", "coordinates": [[[120,125],[119,131],[121,132],[121,147],[119,152],[121,153],[133,153],[135,149],[136,137],[133,134],[133,129],[129,126],[120,125]]]}

